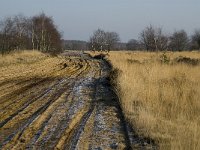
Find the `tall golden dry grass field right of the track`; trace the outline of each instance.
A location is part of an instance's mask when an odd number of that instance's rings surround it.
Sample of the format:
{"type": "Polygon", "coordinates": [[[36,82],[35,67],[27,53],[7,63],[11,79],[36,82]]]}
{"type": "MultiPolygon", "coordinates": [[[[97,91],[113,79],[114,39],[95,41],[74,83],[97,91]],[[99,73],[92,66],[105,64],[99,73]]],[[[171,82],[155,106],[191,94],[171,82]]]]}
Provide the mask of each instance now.
{"type": "Polygon", "coordinates": [[[199,52],[111,52],[126,117],[160,149],[200,149],[200,64],[176,63],[199,52]]]}

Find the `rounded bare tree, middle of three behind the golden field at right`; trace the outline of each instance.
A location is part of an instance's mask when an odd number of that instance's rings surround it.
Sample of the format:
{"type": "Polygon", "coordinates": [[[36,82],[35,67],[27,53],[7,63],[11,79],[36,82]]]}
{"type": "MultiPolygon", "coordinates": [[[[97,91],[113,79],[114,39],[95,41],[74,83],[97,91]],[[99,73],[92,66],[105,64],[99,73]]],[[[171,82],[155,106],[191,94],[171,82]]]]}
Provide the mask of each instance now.
{"type": "Polygon", "coordinates": [[[184,30],[175,31],[170,37],[169,48],[173,51],[182,51],[188,48],[189,39],[184,30]]]}

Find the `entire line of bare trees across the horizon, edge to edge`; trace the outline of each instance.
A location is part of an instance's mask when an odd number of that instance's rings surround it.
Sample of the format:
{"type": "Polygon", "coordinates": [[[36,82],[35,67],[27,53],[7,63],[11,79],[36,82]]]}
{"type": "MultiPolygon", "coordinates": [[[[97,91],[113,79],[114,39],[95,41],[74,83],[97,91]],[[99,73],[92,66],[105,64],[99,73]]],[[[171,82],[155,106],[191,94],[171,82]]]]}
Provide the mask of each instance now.
{"type": "Polygon", "coordinates": [[[62,40],[53,18],[41,13],[32,17],[16,15],[0,21],[0,53],[12,50],[37,49],[42,52],[60,53],[68,50],[147,50],[183,51],[200,50],[200,29],[191,36],[184,30],[166,34],[152,25],[144,28],[138,39],[120,42],[117,32],[97,29],[88,41],[62,40]]]}

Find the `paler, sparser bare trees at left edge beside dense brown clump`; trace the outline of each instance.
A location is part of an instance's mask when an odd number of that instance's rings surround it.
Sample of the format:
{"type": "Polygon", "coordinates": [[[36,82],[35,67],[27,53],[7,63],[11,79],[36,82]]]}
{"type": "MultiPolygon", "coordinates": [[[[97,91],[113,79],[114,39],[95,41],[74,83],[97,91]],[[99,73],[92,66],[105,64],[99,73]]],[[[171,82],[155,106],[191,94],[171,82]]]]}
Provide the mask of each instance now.
{"type": "Polygon", "coordinates": [[[0,23],[1,53],[30,49],[29,19],[23,15],[7,17],[0,23]]]}

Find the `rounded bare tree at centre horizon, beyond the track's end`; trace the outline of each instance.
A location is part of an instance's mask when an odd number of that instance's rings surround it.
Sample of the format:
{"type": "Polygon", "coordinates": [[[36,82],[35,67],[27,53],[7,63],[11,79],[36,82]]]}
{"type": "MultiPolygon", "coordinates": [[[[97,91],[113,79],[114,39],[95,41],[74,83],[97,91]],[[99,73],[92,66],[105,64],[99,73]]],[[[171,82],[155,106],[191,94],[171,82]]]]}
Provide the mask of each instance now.
{"type": "Polygon", "coordinates": [[[89,47],[94,51],[110,51],[120,41],[116,32],[105,32],[102,29],[94,31],[89,40],[89,47]]]}

